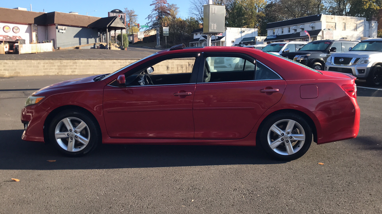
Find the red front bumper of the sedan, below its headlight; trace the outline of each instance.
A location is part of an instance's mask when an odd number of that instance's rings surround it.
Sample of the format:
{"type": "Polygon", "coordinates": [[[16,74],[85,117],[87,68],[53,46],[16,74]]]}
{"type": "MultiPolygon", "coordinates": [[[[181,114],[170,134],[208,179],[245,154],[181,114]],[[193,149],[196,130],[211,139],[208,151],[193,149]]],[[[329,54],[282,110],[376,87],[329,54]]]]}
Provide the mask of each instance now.
{"type": "Polygon", "coordinates": [[[48,112],[38,107],[29,105],[21,110],[21,123],[24,124],[24,133],[21,139],[25,141],[44,141],[44,121],[48,112]],[[28,125],[26,125],[28,124],[28,125]]]}

